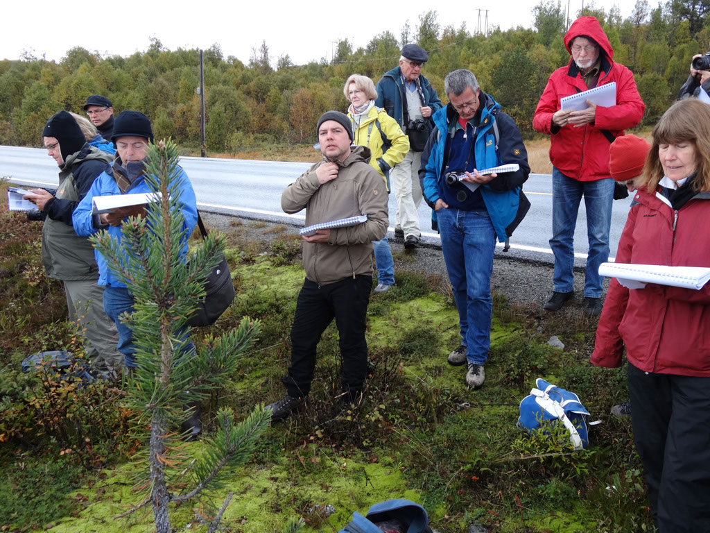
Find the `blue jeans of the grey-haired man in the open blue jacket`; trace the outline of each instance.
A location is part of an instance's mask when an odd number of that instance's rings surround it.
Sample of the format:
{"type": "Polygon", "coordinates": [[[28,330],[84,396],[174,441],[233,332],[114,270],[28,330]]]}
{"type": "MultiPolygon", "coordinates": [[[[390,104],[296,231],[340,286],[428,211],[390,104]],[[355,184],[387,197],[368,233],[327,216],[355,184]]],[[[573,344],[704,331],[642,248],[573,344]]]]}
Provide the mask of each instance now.
{"type": "Polygon", "coordinates": [[[466,359],[484,365],[491,348],[491,273],[496,232],[486,211],[439,209],[439,233],[449,281],[459,311],[466,359]]]}

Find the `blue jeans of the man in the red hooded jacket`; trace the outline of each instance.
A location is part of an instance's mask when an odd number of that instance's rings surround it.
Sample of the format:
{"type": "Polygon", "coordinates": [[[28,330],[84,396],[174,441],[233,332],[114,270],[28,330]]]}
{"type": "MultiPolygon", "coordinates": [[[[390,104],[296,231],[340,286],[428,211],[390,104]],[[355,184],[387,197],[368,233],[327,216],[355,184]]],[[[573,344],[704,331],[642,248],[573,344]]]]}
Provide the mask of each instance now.
{"type": "Polygon", "coordinates": [[[564,176],[552,167],[552,239],[550,248],[555,254],[555,291],[574,289],[574,227],[577,225],[579,202],[584,196],[586,233],[589,254],[586,259],[584,296],[601,296],[602,277],[599,265],[609,259],[609,230],[614,181],[578,181],[564,176]]]}

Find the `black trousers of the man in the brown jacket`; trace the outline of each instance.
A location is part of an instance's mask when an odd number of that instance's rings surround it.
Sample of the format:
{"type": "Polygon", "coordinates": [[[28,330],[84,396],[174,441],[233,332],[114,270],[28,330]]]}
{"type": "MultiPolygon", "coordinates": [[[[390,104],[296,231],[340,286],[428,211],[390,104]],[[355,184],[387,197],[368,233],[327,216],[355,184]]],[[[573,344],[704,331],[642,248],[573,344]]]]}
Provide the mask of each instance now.
{"type": "Polygon", "coordinates": [[[372,276],[355,276],[318,286],[303,282],[291,328],[291,365],[283,384],[291,397],[310,392],[315,370],[316,347],[325,328],[335,318],[343,358],[343,390],[354,394],[367,377],[365,318],[370,302],[372,276]]]}

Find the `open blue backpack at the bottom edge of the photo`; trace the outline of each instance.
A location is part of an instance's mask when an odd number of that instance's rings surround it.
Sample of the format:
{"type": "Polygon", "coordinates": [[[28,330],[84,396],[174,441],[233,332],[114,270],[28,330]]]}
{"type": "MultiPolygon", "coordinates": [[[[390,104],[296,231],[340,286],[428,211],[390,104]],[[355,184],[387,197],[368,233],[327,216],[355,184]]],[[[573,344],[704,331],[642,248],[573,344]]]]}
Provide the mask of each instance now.
{"type": "Polygon", "coordinates": [[[428,523],[429,517],[421,505],[410,500],[386,500],[370,507],[367,516],[354,512],[339,533],[432,533],[428,523]]]}

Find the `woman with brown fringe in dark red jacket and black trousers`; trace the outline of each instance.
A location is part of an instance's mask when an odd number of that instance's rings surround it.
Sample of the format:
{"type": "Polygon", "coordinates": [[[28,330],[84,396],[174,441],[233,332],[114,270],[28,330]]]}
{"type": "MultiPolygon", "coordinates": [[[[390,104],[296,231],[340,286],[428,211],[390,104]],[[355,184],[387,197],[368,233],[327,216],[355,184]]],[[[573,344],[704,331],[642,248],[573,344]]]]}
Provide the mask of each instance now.
{"type": "MultiPolygon", "coordinates": [[[[616,262],[710,266],[710,105],[685,99],[653,129],[616,262]]],[[[628,358],[633,435],[661,533],[710,531],[710,284],[611,280],[594,365],[628,358]]]]}

